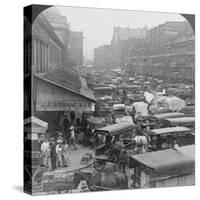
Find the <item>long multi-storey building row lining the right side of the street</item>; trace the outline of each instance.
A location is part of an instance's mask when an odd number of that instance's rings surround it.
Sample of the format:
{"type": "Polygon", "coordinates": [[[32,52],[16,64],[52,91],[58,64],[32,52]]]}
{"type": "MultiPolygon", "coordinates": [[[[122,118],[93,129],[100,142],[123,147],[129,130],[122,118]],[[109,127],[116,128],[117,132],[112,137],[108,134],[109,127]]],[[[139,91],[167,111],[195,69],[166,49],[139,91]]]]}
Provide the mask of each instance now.
{"type": "Polygon", "coordinates": [[[194,80],[195,37],[186,21],[166,22],[151,29],[144,45],[132,49],[130,55],[130,72],[194,80]]]}

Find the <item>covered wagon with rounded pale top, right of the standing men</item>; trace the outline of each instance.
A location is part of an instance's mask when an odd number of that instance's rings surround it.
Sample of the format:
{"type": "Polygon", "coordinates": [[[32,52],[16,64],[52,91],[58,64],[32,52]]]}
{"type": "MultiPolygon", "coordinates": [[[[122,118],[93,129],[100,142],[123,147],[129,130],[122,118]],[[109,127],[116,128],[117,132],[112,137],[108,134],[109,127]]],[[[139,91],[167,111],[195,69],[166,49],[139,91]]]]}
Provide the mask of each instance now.
{"type": "Polygon", "coordinates": [[[134,143],[135,125],[130,122],[119,122],[97,129],[95,136],[97,148],[95,152],[94,168],[103,171],[108,162],[123,167],[127,163],[127,151],[134,143]]]}

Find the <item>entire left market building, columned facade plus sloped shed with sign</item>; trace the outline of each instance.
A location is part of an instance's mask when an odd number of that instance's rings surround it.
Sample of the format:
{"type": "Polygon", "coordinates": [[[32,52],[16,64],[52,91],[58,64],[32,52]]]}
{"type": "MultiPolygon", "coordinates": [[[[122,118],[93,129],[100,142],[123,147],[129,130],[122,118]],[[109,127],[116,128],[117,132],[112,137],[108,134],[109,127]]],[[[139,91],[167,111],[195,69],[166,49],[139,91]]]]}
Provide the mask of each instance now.
{"type": "Polygon", "coordinates": [[[32,114],[48,123],[50,135],[62,131],[63,119],[70,112],[80,118],[95,107],[86,80],[65,62],[66,45],[55,30],[44,14],[32,26],[32,114]]]}

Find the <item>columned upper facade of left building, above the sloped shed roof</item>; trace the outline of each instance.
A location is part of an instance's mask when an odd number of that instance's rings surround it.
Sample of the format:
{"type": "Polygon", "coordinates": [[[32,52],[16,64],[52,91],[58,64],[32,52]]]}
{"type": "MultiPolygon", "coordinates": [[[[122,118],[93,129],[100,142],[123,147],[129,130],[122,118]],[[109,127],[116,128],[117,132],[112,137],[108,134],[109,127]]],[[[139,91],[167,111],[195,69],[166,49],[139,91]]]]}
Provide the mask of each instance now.
{"type": "Polygon", "coordinates": [[[45,73],[63,65],[64,45],[41,13],[32,25],[32,70],[45,73]]]}

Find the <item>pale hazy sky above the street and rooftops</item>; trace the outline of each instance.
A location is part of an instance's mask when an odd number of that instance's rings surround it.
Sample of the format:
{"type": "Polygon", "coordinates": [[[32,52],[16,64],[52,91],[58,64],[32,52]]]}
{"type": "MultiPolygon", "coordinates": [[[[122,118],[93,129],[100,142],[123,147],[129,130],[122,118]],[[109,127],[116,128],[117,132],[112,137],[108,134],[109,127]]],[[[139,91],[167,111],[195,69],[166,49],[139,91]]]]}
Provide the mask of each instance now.
{"type": "Polygon", "coordinates": [[[78,7],[57,7],[61,14],[67,17],[71,30],[83,31],[84,56],[93,58],[94,48],[110,44],[113,27],[148,28],[162,24],[165,21],[183,21],[180,14],[110,10],[78,7]]]}

